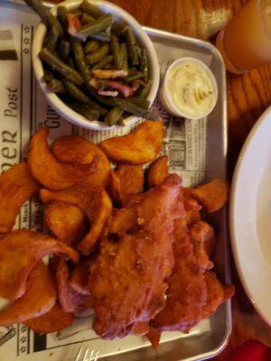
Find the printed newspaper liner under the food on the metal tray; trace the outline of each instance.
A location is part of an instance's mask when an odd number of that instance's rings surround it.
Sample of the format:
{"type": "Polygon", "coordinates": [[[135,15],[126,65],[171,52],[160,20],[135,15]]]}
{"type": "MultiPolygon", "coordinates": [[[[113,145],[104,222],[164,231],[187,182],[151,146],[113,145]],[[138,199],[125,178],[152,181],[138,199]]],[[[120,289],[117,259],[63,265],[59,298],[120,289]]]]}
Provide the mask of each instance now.
{"type": "MultiPolygon", "coordinates": [[[[46,103],[33,75],[31,52],[37,16],[1,3],[0,10],[1,172],[27,158],[31,136],[43,126],[50,128],[51,140],[64,134],[79,134],[95,143],[116,134],[126,134],[136,126],[98,133],[70,125],[61,119],[46,103]],[[6,32],[9,34],[8,42],[4,36],[6,32]],[[1,51],[5,52],[3,58],[1,51]],[[9,54],[12,54],[10,59],[9,54]]],[[[159,58],[161,77],[168,65],[183,55],[196,56],[210,64],[211,56],[202,55],[201,52],[183,51],[158,42],[154,42],[154,47],[159,58]]],[[[166,125],[162,153],[169,157],[170,171],[182,176],[184,186],[195,186],[203,182],[206,173],[206,118],[198,121],[176,119],[164,111],[158,99],[154,102],[153,110],[163,117],[166,125]]],[[[25,202],[15,228],[47,231],[42,219],[42,203],[38,198],[25,202]]],[[[6,301],[0,299],[0,307],[5,304],[6,301]]],[[[60,335],[37,335],[23,325],[0,327],[0,359],[21,361],[36,360],[38,357],[43,361],[55,361],[65,357],[65,361],[71,361],[83,341],[88,343],[88,347],[97,349],[100,356],[149,346],[146,338],[133,336],[105,341],[98,338],[91,329],[91,323],[91,317],[78,318],[70,328],[61,331],[60,335]]],[[[189,335],[164,332],[162,342],[194,337],[209,330],[210,321],[207,319],[189,335]]]]}

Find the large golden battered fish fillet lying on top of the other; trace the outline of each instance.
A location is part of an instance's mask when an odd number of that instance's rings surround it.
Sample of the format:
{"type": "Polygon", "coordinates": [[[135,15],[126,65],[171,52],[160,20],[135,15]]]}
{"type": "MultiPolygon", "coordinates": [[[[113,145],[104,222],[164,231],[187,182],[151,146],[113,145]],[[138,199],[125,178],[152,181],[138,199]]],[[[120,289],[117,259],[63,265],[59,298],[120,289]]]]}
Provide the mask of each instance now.
{"type": "Polygon", "coordinates": [[[184,212],[180,184],[173,174],[109,218],[89,279],[93,329],[100,337],[123,338],[164,308],[165,280],[173,269],[173,221],[184,212]]]}

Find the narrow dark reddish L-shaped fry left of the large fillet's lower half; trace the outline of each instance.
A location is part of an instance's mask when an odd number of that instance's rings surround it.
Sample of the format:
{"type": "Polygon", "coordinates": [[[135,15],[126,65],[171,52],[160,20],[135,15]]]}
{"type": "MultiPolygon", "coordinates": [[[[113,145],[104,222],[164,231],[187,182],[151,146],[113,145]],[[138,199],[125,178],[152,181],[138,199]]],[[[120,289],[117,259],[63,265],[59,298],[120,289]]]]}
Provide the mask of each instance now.
{"type": "Polygon", "coordinates": [[[69,268],[65,260],[61,258],[57,271],[57,282],[62,309],[73,313],[89,309],[93,304],[92,297],[73,290],[70,287],[69,278],[69,268]]]}

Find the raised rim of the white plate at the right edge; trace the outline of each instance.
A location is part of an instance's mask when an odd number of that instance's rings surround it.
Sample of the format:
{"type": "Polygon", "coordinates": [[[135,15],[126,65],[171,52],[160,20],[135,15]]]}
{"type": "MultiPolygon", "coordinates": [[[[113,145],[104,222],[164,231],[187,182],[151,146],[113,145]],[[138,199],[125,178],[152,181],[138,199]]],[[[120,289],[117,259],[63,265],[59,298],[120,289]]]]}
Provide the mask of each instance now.
{"type": "MultiPolygon", "coordinates": [[[[266,321],[266,323],[271,326],[271,316],[266,316],[266,312],[262,310],[257,301],[255,301],[255,295],[251,292],[251,288],[249,285],[249,280],[246,274],[243,272],[240,260],[238,257],[238,236],[236,234],[236,227],[235,227],[235,207],[237,201],[237,189],[238,189],[238,179],[240,175],[240,171],[243,165],[243,160],[248,152],[250,147],[251,141],[254,136],[257,134],[258,130],[261,126],[266,122],[267,116],[271,114],[271,106],[267,107],[264,113],[258,117],[257,122],[253,125],[252,129],[250,130],[248,137],[246,138],[245,143],[242,146],[241,152],[238,155],[238,161],[236,163],[236,167],[233,173],[232,182],[231,182],[231,190],[230,190],[230,199],[229,199],[229,235],[230,235],[230,244],[232,249],[232,255],[234,258],[235,266],[238,270],[238,277],[245,289],[245,292],[248,295],[249,300],[253,304],[254,308],[257,310],[258,314],[261,316],[262,319],[266,321]]],[[[271,281],[271,280],[270,280],[271,281]]],[[[271,288],[270,288],[270,296],[271,296],[271,288]]]]}

